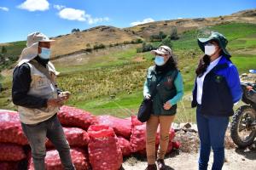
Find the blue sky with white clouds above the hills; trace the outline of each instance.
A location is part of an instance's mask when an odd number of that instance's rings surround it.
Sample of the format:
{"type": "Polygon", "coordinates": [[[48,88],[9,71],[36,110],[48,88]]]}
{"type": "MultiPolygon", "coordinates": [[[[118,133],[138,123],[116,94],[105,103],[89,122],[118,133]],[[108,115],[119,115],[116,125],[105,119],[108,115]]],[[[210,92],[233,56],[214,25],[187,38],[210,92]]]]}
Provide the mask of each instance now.
{"type": "Polygon", "coordinates": [[[256,0],[1,0],[0,42],[49,37],[94,26],[129,27],[154,20],[212,17],[256,8],[256,0]]]}

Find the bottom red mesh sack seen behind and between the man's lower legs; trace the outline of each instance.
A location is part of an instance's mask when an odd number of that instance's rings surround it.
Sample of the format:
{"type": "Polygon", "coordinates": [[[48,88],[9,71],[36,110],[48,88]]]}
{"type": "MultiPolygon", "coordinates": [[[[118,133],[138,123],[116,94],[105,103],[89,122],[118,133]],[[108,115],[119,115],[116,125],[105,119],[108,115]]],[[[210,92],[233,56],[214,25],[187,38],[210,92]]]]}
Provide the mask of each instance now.
{"type": "MultiPolygon", "coordinates": [[[[89,170],[90,164],[88,160],[88,155],[84,150],[79,148],[74,148],[70,150],[71,158],[76,170],[89,170]]],[[[34,165],[32,162],[32,157],[29,161],[29,170],[34,170],[34,165]]],[[[61,159],[57,150],[48,150],[45,156],[45,169],[46,170],[63,170],[61,165],[61,159]]]]}

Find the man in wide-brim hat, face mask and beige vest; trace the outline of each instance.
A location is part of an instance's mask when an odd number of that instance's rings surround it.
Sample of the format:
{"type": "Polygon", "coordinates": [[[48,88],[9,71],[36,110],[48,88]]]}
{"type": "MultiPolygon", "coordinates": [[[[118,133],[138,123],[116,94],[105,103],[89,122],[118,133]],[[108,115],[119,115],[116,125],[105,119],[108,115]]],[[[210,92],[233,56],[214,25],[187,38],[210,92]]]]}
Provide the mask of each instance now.
{"type": "Polygon", "coordinates": [[[69,93],[61,92],[55,82],[59,72],[49,62],[53,41],[40,32],[27,36],[26,48],[13,74],[12,98],[18,105],[21,126],[32,148],[34,168],[45,169],[47,137],[58,150],[63,167],[73,170],[70,147],[56,116],[69,93]]]}

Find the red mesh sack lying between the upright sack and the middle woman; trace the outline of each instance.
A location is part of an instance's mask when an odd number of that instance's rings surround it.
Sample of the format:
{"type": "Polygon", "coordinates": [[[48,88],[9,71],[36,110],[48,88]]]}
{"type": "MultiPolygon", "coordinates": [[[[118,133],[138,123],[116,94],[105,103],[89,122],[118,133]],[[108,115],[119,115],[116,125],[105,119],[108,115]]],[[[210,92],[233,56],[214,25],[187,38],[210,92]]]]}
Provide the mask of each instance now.
{"type": "Polygon", "coordinates": [[[130,139],[131,136],[131,121],[114,116],[97,116],[97,125],[106,125],[112,127],[114,133],[130,139]]]}

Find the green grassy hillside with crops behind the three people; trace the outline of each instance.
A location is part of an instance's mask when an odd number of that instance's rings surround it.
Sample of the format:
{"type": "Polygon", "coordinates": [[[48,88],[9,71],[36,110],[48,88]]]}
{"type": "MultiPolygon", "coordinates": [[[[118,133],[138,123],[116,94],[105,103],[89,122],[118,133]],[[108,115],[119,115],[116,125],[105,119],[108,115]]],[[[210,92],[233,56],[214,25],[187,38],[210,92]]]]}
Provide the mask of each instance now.
{"type": "MultiPolygon", "coordinates": [[[[256,68],[256,25],[229,23],[208,29],[219,31],[229,39],[231,60],[240,73],[256,68]]],[[[185,31],[178,40],[172,41],[185,88],[183,102],[178,104],[177,122],[195,121],[189,95],[194,85],[195,67],[202,55],[197,46],[197,34],[198,30],[185,31]]],[[[13,43],[8,52],[15,54],[24,46],[25,42],[13,43]]],[[[59,87],[73,94],[67,105],[75,105],[96,115],[123,117],[135,114],[143,99],[146,70],[153,65],[153,56],[149,52],[137,54],[138,46],[140,44],[103,49],[102,55],[96,57],[82,54],[81,58],[86,59],[81,62],[72,59],[55,61],[57,70],[61,71],[59,87]]],[[[0,108],[15,109],[10,100],[11,77],[2,77],[1,81],[0,108]]]]}

